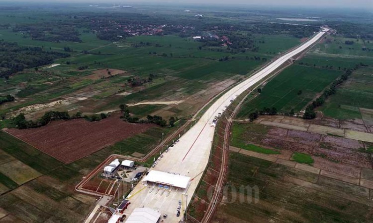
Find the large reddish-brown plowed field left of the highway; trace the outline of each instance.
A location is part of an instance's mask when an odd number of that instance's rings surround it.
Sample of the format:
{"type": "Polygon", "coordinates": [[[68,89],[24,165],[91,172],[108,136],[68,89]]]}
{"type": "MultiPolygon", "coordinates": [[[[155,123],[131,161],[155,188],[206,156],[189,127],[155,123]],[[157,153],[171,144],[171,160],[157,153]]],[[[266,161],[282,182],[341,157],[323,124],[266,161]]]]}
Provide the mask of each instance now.
{"type": "Polygon", "coordinates": [[[127,123],[119,119],[119,116],[119,113],[114,113],[96,122],[83,118],[59,120],[40,128],[6,131],[57,160],[69,164],[153,126],[127,123]]]}

